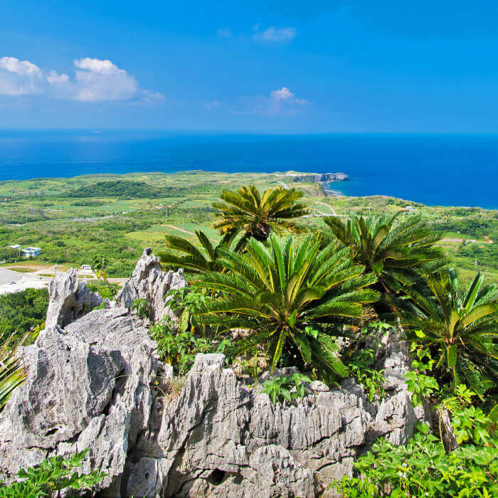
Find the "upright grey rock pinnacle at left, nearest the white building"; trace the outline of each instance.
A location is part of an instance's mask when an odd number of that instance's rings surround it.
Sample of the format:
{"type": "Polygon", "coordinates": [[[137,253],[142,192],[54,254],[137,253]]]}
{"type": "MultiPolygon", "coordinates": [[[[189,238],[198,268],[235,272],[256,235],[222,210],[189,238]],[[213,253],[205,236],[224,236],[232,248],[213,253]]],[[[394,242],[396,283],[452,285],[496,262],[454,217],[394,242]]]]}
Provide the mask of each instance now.
{"type": "Polygon", "coordinates": [[[90,292],[85,282],[78,280],[75,268],[58,273],[48,282],[48,298],[46,327],[65,327],[104,301],[96,292],[90,292]]]}

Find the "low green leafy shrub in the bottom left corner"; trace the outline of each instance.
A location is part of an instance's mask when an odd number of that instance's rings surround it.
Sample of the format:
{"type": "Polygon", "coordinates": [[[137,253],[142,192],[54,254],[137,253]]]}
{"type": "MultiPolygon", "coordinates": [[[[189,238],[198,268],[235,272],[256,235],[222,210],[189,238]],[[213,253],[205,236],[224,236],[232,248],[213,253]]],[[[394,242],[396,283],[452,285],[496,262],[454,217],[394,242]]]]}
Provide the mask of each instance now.
{"type": "Polygon", "coordinates": [[[20,470],[18,481],[0,487],[0,498],[35,498],[60,496],[62,489],[92,491],[105,477],[102,472],[83,474],[78,471],[89,450],[69,458],[51,457],[39,465],[20,470]]]}

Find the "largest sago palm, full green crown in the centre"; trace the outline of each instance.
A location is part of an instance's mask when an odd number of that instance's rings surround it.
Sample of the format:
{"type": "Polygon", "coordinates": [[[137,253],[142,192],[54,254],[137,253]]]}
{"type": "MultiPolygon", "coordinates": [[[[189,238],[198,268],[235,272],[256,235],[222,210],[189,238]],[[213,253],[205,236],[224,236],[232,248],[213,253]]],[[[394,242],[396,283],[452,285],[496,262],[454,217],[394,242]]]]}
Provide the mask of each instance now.
{"type": "Polygon", "coordinates": [[[248,240],[242,255],[222,250],[221,264],[228,272],[198,277],[197,285],[218,293],[198,309],[201,321],[219,332],[249,332],[235,345],[235,356],[263,344],[272,370],[282,353],[298,354],[325,376],[346,376],[334,336],[362,316],[363,303],[378,299],[378,292],[364,288],[376,277],[352,263],[347,249],[328,245],[320,250],[318,235],[299,247],[292,236],[282,245],[274,234],[269,241],[266,247],[248,240]]]}

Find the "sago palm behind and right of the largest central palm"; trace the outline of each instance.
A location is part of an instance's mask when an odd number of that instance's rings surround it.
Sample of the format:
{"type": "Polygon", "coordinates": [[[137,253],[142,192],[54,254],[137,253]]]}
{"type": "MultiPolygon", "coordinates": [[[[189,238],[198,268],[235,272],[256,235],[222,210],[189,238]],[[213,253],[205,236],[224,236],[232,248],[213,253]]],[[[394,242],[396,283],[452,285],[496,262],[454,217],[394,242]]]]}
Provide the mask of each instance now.
{"type": "Polygon", "coordinates": [[[351,258],[378,276],[387,292],[399,292],[418,280],[422,266],[435,270],[443,265],[443,253],[434,243],[441,235],[418,216],[396,224],[393,216],[355,216],[346,221],[324,218],[339,244],[351,258]]]}

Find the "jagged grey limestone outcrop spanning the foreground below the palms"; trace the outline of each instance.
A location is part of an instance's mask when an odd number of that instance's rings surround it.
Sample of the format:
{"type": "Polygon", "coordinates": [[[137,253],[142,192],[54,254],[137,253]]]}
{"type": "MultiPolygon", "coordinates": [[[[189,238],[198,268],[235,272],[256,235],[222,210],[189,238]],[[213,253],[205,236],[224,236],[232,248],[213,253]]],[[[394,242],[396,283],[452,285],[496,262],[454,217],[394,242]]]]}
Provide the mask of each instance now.
{"type": "MultiPolygon", "coordinates": [[[[72,273],[66,278],[58,288],[73,288],[72,273]]],[[[108,475],[101,496],[334,496],[329,482],[351,475],[376,437],[404,443],[423,418],[403,383],[409,358],[396,331],[377,358],[386,369],[383,401],[369,403],[349,378],[332,391],[311,383],[306,398],[272,405],[221,354],[198,354],[174,395],[171,367],[123,306],[149,298],[154,317],[164,316],[166,282],[181,285],[183,273],[161,272],[146,251],[121,306],[73,313],[74,321],[46,327],[23,349],[28,378],[0,414],[1,480],[47,456],[90,448],[85,470],[108,475]]],[[[51,296],[77,302],[78,289],[51,296]]],[[[53,304],[52,319],[66,316],[60,309],[53,304]]]]}

